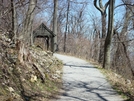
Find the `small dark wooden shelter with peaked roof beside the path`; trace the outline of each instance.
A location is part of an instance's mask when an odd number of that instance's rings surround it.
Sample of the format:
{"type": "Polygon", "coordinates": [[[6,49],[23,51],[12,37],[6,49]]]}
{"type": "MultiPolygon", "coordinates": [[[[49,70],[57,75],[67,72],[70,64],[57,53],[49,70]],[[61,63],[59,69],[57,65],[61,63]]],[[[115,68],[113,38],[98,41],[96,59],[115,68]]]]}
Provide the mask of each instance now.
{"type": "Polygon", "coordinates": [[[54,37],[55,34],[51,31],[44,23],[42,23],[39,27],[37,27],[33,31],[33,43],[36,38],[44,38],[44,46],[47,46],[47,50],[49,49],[49,45],[51,45],[51,51],[54,52],[54,37]],[[50,43],[50,44],[49,44],[50,43]]]}

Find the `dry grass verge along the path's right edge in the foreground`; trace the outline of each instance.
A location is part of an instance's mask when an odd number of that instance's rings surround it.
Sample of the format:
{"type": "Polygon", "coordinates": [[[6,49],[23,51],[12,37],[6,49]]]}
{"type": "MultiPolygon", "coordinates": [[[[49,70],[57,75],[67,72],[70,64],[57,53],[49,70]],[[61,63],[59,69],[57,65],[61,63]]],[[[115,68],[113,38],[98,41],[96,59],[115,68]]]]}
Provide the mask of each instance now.
{"type": "Polygon", "coordinates": [[[107,80],[111,83],[112,87],[127,99],[126,101],[134,101],[134,81],[125,79],[111,70],[101,69],[101,71],[106,75],[107,80]]]}

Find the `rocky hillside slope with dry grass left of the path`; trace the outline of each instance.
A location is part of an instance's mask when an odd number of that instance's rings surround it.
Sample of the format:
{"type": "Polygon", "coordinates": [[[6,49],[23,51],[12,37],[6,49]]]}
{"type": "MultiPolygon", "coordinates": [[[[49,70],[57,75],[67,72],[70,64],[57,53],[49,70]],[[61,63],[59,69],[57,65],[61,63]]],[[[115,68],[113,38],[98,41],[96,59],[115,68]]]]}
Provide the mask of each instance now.
{"type": "Polygon", "coordinates": [[[51,52],[0,37],[0,101],[48,101],[61,84],[62,63],[51,52]]]}

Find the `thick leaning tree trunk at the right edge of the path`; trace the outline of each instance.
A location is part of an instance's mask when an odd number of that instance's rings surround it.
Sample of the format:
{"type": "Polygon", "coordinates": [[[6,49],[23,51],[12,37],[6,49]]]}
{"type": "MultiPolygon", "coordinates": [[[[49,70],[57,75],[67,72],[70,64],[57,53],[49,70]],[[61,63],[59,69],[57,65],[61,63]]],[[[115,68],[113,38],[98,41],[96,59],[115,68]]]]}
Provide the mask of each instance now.
{"type": "Polygon", "coordinates": [[[114,23],[114,4],[115,0],[109,1],[109,15],[108,15],[108,32],[105,40],[104,47],[104,61],[103,68],[110,68],[110,53],[111,53],[111,41],[113,36],[113,23],[114,23]]]}

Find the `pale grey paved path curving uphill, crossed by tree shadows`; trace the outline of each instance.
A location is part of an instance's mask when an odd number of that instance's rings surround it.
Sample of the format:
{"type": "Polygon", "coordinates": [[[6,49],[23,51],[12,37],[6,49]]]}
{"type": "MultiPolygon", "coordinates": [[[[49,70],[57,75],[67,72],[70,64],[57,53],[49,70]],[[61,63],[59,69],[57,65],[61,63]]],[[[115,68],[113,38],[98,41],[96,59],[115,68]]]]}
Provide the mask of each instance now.
{"type": "Polygon", "coordinates": [[[63,94],[57,101],[124,101],[105,76],[88,62],[59,54],[63,61],[63,94]]]}

